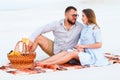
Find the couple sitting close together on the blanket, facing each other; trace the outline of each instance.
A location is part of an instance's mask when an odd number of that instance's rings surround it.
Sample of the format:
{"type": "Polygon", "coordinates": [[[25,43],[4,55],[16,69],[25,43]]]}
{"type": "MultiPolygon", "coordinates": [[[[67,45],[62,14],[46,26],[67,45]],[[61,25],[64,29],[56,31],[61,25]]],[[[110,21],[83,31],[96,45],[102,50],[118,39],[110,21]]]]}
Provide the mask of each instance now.
{"type": "Polygon", "coordinates": [[[59,65],[67,62],[83,66],[109,64],[101,50],[101,29],[94,11],[82,10],[83,24],[76,21],[77,17],[77,9],[69,6],[65,10],[65,19],[41,26],[30,36],[30,51],[34,52],[40,46],[50,56],[36,65],[59,65]],[[42,35],[50,31],[53,32],[54,41],[42,35]]]}

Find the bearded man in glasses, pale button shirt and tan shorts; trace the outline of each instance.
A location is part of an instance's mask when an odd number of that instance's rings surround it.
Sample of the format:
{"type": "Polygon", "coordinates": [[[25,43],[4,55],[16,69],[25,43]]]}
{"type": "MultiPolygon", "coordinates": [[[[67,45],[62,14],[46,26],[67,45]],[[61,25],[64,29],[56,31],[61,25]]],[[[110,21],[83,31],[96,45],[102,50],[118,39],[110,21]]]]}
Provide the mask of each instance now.
{"type": "Polygon", "coordinates": [[[40,46],[49,56],[72,49],[78,42],[83,25],[76,21],[77,9],[69,6],[65,10],[65,19],[56,21],[37,29],[31,36],[30,51],[35,51],[40,46]],[[53,32],[54,42],[43,33],[53,32]]]}

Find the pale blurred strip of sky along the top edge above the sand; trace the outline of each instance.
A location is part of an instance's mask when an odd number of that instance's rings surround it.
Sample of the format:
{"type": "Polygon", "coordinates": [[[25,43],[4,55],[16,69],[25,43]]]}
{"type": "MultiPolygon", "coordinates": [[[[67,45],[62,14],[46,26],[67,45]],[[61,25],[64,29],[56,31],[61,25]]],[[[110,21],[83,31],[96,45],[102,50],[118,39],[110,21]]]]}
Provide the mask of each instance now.
{"type": "Polygon", "coordinates": [[[74,5],[76,3],[108,3],[119,4],[120,0],[0,0],[0,10],[19,10],[36,7],[57,8],[60,5],[74,5]],[[53,7],[56,6],[56,7],[53,7]]]}

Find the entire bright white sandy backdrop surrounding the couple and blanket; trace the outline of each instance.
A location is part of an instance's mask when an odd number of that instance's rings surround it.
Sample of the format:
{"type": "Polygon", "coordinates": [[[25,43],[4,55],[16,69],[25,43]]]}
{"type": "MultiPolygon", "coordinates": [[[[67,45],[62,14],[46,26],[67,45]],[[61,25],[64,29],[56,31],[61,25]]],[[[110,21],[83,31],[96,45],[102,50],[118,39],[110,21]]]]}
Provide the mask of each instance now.
{"type": "MultiPolygon", "coordinates": [[[[18,40],[29,36],[37,27],[64,18],[64,9],[73,5],[81,10],[92,8],[102,29],[103,50],[120,55],[119,0],[0,0],[0,65],[8,63],[6,54],[18,40]]],[[[53,39],[52,33],[46,34],[53,39]]],[[[39,48],[37,59],[48,57],[39,48]]],[[[120,80],[120,65],[61,71],[34,75],[11,75],[0,71],[0,80],[120,80]]]]}

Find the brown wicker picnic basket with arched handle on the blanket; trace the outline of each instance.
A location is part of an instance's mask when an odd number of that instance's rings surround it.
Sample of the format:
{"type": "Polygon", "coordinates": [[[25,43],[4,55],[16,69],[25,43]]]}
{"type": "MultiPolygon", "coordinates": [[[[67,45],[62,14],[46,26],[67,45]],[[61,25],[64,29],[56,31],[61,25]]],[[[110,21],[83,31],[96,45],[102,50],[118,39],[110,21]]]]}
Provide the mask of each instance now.
{"type": "Polygon", "coordinates": [[[17,69],[32,68],[34,65],[34,59],[36,58],[36,53],[23,52],[23,50],[20,51],[20,43],[22,43],[22,47],[24,47],[22,41],[17,42],[14,49],[14,52],[17,52],[17,55],[7,54],[8,60],[10,61],[10,66],[17,69]]]}

